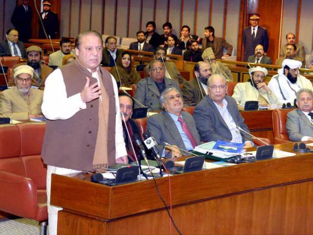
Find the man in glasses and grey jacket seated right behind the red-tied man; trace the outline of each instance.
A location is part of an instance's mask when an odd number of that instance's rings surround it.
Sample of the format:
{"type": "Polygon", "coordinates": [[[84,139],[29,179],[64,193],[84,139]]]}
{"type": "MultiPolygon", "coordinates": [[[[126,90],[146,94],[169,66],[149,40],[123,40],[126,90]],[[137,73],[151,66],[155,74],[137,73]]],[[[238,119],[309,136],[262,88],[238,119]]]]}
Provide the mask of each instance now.
{"type": "MultiPolygon", "coordinates": [[[[179,90],[179,84],[165,77],[164,64],[159,60],[153,60],[149,64],[149,77],[137,83],[135,99],[152,110],[161,109],[159,102],[160,94],[168,87],[179,90]]],[[[180,91],[180,90],[179,90],[180,91]]],[[[135,103],[135,108],[140,106],[135,103]]]]}

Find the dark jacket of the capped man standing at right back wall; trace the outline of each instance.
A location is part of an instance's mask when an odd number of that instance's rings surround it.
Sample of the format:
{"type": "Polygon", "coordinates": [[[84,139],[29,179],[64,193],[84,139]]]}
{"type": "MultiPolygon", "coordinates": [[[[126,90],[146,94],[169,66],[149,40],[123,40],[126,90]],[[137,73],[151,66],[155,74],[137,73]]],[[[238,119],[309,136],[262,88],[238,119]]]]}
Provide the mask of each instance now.
{"type": "Polygon", "coordinates": [[[268,51],[268,31],[265,28],[258,26],[258,31],[255,35],[254,41],[252,41],[251,26],[246,27],[243,33],[243,43],[245,46],[245,61],[247,61],[250,55],[254,55],[254,47],[258,44],[262,44],[264,51],[268,51]]]}

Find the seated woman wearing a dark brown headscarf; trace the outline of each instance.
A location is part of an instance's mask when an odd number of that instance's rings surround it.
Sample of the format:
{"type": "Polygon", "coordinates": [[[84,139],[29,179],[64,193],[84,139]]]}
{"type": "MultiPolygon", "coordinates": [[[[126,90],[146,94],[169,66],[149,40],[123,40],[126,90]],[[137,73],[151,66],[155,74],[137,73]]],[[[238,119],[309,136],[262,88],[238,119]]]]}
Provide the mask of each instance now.
{"type": "Polygon", "coordinates": [[[131,54],[128,51],[124,51],[118,56],[116,67],[112,67],[110,73],[114,76],[116,82],[121,79],[121,86],[137,84],[141,79],[138,71],[132,65],[131,54]]]}

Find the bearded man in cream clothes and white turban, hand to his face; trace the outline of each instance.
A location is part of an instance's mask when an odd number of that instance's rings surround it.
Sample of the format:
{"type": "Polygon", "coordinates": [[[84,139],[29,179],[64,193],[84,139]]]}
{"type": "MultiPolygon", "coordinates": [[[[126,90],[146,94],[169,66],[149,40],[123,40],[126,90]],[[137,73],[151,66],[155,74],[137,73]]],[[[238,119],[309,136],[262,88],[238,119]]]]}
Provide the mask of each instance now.
{"type": "Polygon", "coordinates": [[[277,104],[278,99],[264,82],[268,70],[257,66],[249,69],[249,74],[251,78],[247,82],[237,83],[232,95],[239,110],[244,110],[246,101],[259,101],[259,105],[267,107],[269,104],[277,104]]]}

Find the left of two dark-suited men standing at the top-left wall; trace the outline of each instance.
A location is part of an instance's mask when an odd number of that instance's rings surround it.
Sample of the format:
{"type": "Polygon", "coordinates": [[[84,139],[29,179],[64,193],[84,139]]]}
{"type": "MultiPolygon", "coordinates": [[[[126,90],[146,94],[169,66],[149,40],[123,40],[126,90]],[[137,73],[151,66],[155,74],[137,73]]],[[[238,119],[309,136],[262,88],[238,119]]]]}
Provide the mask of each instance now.
{"type": "Polygon", "coordinates": [[[15,7],[11,17],[11,22],[19,31],[19,38],[23,43],[31,38],[31,7],[28,3],[29,0],[22,0],[22,4],[15,7]]]}

